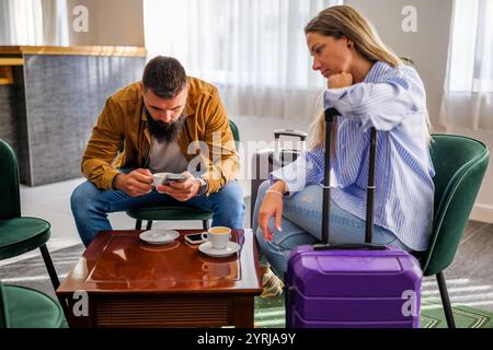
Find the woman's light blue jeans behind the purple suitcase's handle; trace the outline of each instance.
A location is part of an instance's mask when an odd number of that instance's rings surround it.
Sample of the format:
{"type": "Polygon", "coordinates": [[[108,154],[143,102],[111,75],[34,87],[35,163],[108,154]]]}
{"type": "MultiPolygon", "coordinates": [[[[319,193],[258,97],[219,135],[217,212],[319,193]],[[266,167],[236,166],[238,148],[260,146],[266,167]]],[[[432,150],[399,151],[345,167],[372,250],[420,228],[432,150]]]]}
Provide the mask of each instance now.
{"type": "MultiPolygon", "coordinates": [[[[271,218],[270,229],[273,241],[264,240],[263,231],[259,228],[259,209],[271,186],[264,182],[259,188],[259,196],[253,213],[253,232],[259,245],[261,264],[271,264],[274,272],[284,277],[287,260],[293,248],[303,244],[314,244],[321,241],[322,231],[322,187],[307,186],[302,191],[283,201],[283,220],[279,232],[275,229],[275,220],[271,218]]],[[[331,188],[331,191],[340,190],[331,188]]],[[[331,200],[330,244],[364,243],[365,221],[341,209],[331,200]]],[[[391,245],[411,252],[395,235],[383,228],[374,226],[372,243],[391,245]]]]}

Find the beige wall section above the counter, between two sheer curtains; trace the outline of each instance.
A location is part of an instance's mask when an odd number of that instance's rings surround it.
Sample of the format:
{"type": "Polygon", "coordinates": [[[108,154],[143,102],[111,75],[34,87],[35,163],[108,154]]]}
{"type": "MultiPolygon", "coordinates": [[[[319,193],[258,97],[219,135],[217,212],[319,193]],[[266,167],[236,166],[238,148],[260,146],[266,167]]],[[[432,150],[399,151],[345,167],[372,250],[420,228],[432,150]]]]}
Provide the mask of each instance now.
{"type": "Polygon", "coordinates": [[[144,47],[142,0],[67,0],[69,42],[74,45],[144,47]],[[89,10],[89,31],[76,33],[72,10],[89,10]]]}

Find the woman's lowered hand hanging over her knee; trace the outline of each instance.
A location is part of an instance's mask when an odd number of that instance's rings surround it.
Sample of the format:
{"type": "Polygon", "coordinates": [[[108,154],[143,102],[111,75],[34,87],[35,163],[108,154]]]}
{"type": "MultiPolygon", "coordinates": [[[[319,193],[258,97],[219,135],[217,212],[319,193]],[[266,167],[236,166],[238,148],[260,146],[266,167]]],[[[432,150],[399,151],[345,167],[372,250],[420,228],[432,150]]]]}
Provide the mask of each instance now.
{"type": "Polygon", "coordinates": [[[268,229],[271,217],[275,217],[277,231],[280,229],[280,219],[283,218],[283,194],[286,191],[286,184],[282,180],[276,182],[265,194],[264,200],[259,209],[259,226],[264,233],[265,241],[272,241],[273,235],[268,229]]]}

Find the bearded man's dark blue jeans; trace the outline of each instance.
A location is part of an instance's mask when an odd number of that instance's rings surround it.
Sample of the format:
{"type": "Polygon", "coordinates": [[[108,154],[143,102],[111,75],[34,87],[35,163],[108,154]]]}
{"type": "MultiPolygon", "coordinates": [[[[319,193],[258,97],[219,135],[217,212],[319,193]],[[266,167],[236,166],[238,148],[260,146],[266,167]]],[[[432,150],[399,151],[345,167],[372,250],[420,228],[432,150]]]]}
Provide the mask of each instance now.
{"type": "Polygon", "coordinates": [[[176,206],[183,203],[213,211],[213,225],[215,226],[231,229],[243,226],[243,192],[238,182],[226,184],[218,192],[194,197],[184,202],[169,195],[160,194],[156,189],[144,196],[130,197],[123,190],[99,189],[90,182],[79,185],[70,198],[77,230],[85,246],[99,231],[112,230],[107,220],[110,212],[152,205],[176,206]]]}

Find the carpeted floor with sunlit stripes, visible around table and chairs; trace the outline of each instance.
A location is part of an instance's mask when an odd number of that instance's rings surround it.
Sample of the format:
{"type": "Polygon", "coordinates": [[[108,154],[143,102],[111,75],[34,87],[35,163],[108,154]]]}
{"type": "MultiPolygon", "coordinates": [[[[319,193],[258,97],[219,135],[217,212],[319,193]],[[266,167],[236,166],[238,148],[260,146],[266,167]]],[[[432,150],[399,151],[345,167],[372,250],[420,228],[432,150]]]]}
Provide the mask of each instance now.
{"type": "MultiPolygon", "coordinates": [[[[83,252],[82,245],[76,245],[51,253],[51,258],[61,279],[79,260],[83,252]]],[[[465,265],[468,260],[462,260],[465,265]]],[[[4,262],[4,261],[3,261],[4,262]]],[[[491,312],[493,296],[490,280],[470,279],[467,273],[449,273],[447,280],[454,305],[456,324],[461,328],[493,328],[491,312]],[[467,277],[467,278],[465,278],[467,277]],[[460,302],[473,304],[462,306],[460,302]],[[478,307],[477,307],[478,306],[478,307]]],[[[471,275],[469,272],[469,275],[471,275]]],[[[47,278],[44,262],[39,256],[0,265],[0,279],[4,283],[19,284],[38,289],[55,298],[51,284],[47,278]]],[[[421,327],[445,328],[446,322],[439,302],[438,290],[434,278],[423,282],[421,327]]],[[[284,327],[284,298],[255,299],[255,327],[284,327]]]]}

